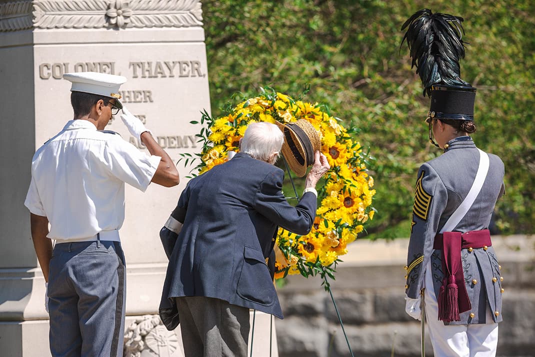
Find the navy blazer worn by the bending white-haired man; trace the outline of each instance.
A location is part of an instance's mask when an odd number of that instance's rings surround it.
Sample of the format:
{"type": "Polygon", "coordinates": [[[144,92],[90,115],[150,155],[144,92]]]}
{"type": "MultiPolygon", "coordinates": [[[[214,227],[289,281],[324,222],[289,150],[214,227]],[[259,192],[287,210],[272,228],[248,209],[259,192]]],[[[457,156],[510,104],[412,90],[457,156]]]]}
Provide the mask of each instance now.
{"type": "Polygon", "coordinates": [[[296,207],[281,192],[284,171],[238,153],[189,181],[171,216],[180,233],[163,227],[169,257],[159,314],[167,329],[179,323],[175,297],[228,301],[282,318],[266,261],[278,226],[308,234],[317,199],[305,193],[296,207]]]}

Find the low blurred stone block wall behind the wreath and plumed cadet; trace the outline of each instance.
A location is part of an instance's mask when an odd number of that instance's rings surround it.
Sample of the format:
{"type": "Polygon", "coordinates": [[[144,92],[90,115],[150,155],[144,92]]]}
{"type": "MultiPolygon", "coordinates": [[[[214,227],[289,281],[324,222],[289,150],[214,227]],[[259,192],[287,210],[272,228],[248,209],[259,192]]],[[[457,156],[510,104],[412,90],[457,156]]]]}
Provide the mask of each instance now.
{"type": "MultiPolygon", "coordinates": [[[[535,237],[493,237],[502,265],[504,321],[498,356],[535,351],[535,237]]],[[[332,294],[353,354],[359,357],[420,355],[419,321],[404,312],[408,239],[355,241],[343,256],[332,294]],[[393,352],[392,352],[393,351],[393,352]]],[[[318,278],[287,278],[278,289],[285,315],[276,319],[280,357],[350,356],[331,295],[318,278]]],[[[432,346],[426,333],[426,355],[432,346]]]]}

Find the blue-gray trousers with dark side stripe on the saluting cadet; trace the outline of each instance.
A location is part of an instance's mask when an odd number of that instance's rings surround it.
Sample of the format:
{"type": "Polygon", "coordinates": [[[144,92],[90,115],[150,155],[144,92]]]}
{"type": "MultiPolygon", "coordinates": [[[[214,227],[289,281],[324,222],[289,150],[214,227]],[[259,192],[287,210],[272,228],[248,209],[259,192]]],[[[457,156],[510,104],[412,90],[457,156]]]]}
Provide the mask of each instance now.
{"type": "Polygon", "coordinates": [[[53,357],[123,356],[125,276],[119,242],[56,244],[48,283],[53,357]]]}

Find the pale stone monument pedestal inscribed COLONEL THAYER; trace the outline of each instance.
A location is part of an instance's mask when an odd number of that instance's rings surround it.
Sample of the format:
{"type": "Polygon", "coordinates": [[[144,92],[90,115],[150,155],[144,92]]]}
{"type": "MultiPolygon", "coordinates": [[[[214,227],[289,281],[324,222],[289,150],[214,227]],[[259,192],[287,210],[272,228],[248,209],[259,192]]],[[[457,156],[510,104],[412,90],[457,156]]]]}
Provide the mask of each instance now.
{"type": "MultiPolygon", "coordinates": [[[[44,279],[24,201],[35,150],[73,118],[70,82],[62,76],[124,75],[121,102],[167,153],[178,161],[181,153],[200,152],[200,127],[190,121],[210,112],[201,2],[0,0],[0,58],[0,354],[46,356],[44,279]]],[[[146,150],[118,118],[107,129],[146,150]]],[[[157,313],[167,264],[158,232],[189,174],[178,169],[178,187],[152,184],[142,193],[126,186],[119,232],[127,264],[127,326],[157,313]]]]}

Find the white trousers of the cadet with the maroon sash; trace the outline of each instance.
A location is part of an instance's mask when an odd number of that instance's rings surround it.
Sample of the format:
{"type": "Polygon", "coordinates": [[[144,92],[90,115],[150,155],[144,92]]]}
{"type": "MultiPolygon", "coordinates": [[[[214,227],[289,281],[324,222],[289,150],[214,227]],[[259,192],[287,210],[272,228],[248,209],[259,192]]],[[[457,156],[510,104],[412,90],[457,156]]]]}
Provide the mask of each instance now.
{"type": "Polygon", "coordinates": [[[425,316],[435,357],[494,357],[498,345],[498,324],[487,306],[487,321],[473,325],[445,325],[438,320],[438,303],[433,289],[431,262],[425,269],[425,316]]]}

